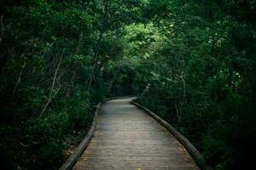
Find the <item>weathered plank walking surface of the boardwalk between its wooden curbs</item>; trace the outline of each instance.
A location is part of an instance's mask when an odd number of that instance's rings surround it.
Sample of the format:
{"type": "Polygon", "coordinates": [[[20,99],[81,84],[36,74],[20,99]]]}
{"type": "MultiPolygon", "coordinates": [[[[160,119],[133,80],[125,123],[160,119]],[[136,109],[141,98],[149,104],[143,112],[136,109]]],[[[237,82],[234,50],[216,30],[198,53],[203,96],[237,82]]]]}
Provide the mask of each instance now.
{"type": "Polygon", "coordinates": [[[200,169],[183,145],[131,98],[102,105],[96,131],[73,167],[82,169],[200,169]]]}

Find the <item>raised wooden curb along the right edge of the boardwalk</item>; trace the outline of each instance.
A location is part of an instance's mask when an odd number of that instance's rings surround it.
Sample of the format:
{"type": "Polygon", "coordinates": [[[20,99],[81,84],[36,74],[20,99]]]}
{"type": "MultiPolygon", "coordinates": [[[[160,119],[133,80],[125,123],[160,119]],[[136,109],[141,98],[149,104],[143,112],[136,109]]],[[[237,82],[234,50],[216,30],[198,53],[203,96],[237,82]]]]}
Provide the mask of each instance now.
{"type": "Polygon", "coordinates": [[[170,133],[172,133],[177,138],[177,140],[183,144],[183,146],[187,150],[189,150],[189,154],[195,159],[196,163],[199,165],[199,167],[201,167],[202,170],[212,170],[212,167],[208,167],[205,164],[205,160],[204,160],[203,156],[201,156],[201,153],[198,150],[196,150],[196,148],[193,144],[191,144],[189,139],[186,139],[182,133],[177,131],[177,129],[175,127],[172,127],[171,124],[169,124],[168,122],[166,122],[165,120],[160,118],[160,116],[155,115],[152,111],[149,111],[143,105],[139,105],[135,101],[131,101],[131,104],[136,105],[139,109],[145,111],[146,113],[148,113],[149,116],[153,117],[154,120],[159,122],[163,127],[166,127],[166,129],[170,133]]]}

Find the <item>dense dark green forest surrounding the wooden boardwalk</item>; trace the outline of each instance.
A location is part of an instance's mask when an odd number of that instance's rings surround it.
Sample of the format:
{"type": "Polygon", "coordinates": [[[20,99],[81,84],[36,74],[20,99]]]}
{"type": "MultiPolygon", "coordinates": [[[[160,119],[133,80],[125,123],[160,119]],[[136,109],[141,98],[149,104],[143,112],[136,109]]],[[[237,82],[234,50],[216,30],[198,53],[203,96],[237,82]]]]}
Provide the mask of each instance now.
{"type": "Polygon", "coordinates": [[[255,0],[1,0],[1,169],[58,169],[114,96],[216,170],[254,169],[255,0]]]}

